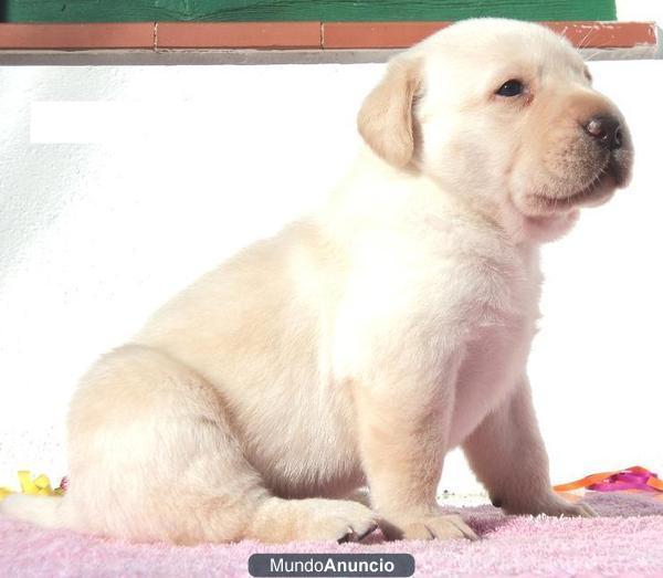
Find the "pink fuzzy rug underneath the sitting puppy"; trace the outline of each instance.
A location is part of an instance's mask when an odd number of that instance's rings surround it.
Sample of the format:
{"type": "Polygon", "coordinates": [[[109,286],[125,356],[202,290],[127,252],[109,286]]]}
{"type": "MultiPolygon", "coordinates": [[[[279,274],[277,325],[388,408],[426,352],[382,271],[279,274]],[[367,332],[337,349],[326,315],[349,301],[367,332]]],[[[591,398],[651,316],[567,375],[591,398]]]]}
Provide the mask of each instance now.
{"type": "Polygon", "coordinates": [[[633,494],[592,494],[602,517],[505,517],[492,506],[462,508],[480,542],[288,544],[172,547],[42,530],[0,517],[0,576],[248,576],[261,551],[403,551],[415,576],[663,576],[663,502],[633,494]]]}

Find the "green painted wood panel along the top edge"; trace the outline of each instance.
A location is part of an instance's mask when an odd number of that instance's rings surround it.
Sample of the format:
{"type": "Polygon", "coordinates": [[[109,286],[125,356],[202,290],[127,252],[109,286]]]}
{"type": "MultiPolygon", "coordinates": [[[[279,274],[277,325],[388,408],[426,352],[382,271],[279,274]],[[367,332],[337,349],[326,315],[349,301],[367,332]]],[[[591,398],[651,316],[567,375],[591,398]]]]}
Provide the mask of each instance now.
{"type": "Polygon", "coordinates": [[[0,0],[9,22],[615,20],[614,0],[0,0]]]}

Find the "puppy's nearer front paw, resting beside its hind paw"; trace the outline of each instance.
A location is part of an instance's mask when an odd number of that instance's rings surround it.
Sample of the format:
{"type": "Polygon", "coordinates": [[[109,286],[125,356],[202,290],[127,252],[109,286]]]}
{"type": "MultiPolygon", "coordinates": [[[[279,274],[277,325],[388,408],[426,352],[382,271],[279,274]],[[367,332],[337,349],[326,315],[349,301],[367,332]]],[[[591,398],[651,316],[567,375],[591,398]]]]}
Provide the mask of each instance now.
{"type": "Polygon", "coordinates": [[[457,515],[389,516],[379,525],[387,539],[478,539],[457,515]]]}

